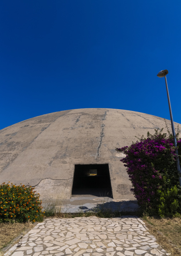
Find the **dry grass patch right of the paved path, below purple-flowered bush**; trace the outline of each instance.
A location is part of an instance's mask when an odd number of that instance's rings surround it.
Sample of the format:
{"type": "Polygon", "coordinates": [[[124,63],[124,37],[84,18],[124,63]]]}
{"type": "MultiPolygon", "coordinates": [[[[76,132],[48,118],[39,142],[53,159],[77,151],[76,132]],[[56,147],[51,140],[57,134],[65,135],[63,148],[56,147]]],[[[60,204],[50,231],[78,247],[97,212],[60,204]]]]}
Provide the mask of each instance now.
{"type": "Polygon", "coordinates": [[[171,256],[181,256],[181,218],[161,219],[144,216],[143,219],[150,234],[156,237],[157,243],[164,250],[171,253],[171,256]],[[157,230],[164,236],[159,234],[157,230]]]}

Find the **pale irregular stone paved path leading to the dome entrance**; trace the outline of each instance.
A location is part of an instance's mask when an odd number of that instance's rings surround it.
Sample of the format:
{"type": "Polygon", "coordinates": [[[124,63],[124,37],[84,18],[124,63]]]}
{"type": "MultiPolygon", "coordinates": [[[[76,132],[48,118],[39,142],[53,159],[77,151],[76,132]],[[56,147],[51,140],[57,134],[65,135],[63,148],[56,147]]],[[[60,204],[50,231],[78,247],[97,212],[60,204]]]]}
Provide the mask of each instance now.
{"type": "Polygon", "coordinates": [[[136,216],[45,219],[5,256],[162,256],[169,255],[136,216]],[[22,243],[20,245],[20,243],[22,243]]]}

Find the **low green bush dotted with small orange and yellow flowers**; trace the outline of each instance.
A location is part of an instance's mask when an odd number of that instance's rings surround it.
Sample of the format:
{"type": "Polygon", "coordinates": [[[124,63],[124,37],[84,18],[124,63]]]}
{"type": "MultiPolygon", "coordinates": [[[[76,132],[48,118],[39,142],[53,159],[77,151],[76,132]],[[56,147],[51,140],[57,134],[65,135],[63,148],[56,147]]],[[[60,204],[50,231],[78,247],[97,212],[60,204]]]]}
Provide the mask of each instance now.
{"type": "Polygon", "coordinates": [[[42,221],[43,212],[39,194],[31,186],[0,185],[0,222],[42,221]]]}

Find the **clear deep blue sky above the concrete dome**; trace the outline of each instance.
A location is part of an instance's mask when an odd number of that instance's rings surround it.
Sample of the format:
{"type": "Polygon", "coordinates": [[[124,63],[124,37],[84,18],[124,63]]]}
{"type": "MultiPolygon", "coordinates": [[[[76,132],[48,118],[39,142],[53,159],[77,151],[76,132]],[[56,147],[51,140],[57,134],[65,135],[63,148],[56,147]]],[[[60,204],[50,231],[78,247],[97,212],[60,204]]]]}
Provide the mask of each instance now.
{"type": "Polygon", "coordinates": [[[0,1],[0,129],[75,108],[181,123],[181,1],[0,1]]]}

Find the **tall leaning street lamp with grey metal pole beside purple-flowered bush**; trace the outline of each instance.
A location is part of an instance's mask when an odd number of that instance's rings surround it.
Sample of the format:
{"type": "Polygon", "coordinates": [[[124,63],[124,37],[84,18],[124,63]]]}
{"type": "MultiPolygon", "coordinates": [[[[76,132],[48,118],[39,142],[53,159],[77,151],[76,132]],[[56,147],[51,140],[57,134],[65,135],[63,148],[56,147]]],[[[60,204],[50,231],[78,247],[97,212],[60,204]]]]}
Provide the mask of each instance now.
{"type": "MultiPolygon", "coordinates": [[[[169,89],[167,86],[167,81],[166,81],[166,75],[169,73],[168,70],[161,70],[158,73],[158,77],[165,77],[165,84],[166,84],[166,92],[167,92],[167,98],[169,102],[169,111],[170,111],[170,119],[171,119],[171,126],[172,126],[172,134],[173,134],[173,139],[174,139],[174,146],[177,147],[177,140],[176,140],[176,135],[175,135],[175,128],[174,128],[174,121],[173,121],[173,116],[172,116],[172,109],[171,109],[171,104],[170,104],[170,96],[169,96],[169,89]]],[[[179,161],[179,154],[178,150],[175,150],[176,153],[176,163],[177,163],[177,171],[181,174],[181,168],[180,168],[180,161],[179,161]]],[[[181,186],[181,176],[179,176],[179,183],[181,186]]]]}

